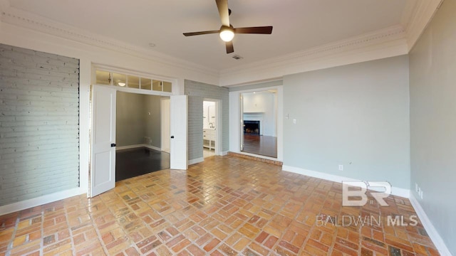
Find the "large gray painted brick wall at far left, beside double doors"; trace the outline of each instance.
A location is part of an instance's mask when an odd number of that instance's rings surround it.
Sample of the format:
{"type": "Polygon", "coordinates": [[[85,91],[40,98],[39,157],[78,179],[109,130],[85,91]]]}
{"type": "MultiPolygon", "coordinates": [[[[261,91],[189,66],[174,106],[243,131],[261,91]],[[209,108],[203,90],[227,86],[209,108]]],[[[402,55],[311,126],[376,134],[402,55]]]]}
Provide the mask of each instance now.
{"type": "Polygon", "coordinates": [[[0,206],[79,186],[79,60],[0,44],[0,206]]]}

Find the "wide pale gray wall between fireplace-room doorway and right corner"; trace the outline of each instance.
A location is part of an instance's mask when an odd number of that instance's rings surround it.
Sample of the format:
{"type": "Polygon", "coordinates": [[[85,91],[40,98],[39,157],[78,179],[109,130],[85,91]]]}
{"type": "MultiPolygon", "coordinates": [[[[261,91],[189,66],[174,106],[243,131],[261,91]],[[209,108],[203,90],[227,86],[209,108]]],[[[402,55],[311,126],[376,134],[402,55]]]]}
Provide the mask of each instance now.
{"type": "Polygon", "coordinates": [[[286,75],[286,114],[284,165],[410,188],[408,56],[286,75]]]}

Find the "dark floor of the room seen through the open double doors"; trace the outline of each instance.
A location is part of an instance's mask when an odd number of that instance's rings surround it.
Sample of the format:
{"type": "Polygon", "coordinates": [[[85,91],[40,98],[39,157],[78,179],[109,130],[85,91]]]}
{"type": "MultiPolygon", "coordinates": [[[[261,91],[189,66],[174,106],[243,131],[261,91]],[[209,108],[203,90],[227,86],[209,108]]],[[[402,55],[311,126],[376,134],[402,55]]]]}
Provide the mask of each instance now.
{"type": "Polygon", "coordinates": [[[170,168],[170,154],[147,148],[115,152],[115,181],[170,168]]]}

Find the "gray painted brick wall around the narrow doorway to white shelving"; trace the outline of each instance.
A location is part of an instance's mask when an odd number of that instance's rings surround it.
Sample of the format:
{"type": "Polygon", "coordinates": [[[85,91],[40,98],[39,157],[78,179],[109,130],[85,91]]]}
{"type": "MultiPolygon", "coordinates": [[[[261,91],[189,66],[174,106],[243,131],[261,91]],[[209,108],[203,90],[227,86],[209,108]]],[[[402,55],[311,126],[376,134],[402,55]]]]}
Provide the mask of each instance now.
{"type": "Polygon", "coordinates": [[[222,105],[222,151],[229,150],[229,92],[225,87],[185,80],[185,95],[188,95],[188,159],[202,155],[202,102],[204,98],[221,100],[222,105]]]}

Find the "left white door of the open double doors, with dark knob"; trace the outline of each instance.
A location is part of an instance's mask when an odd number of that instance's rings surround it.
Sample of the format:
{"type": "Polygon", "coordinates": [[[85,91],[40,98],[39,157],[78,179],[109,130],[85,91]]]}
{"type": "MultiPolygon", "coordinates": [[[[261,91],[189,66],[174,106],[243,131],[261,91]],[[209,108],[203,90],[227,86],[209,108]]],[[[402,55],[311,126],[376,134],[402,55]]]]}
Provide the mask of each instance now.
{"type": "Polygon", "coordinates": [[[90,197],[115,187],[115,93],[93,86],[90,197]]]}

